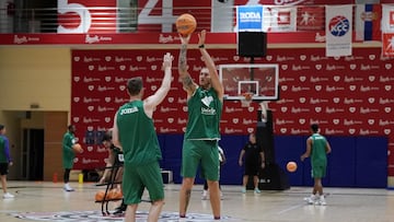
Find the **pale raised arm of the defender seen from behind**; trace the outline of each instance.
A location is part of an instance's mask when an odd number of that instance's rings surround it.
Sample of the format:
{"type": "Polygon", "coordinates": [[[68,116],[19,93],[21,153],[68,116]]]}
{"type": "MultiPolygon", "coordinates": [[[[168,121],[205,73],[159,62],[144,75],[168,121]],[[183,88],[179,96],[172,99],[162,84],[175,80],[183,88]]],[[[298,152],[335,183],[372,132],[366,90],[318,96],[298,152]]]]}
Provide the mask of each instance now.
{"type": "Polygon", "coordinates": [[[163,66],[162,66],[162,69],[164,70],[164,78],[163,78],[162,84],[153,95],[147,97],[143,101],[143,109],[149,117],[152,117],[154,108],[161,102],[163,102],[164,97],[170,92],[171,80],[172,80],[172,70],[171,69],[172,69],[173,60],[174,60],[174,57],[170,52],[166,52],[164,55],[163,66]]]}

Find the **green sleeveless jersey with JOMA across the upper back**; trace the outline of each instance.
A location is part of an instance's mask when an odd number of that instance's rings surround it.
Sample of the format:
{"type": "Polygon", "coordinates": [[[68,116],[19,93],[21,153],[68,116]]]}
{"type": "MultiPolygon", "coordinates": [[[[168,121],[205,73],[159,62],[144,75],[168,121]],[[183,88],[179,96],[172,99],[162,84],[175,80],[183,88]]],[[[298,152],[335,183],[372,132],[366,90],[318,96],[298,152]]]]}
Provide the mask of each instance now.
{"type": "Polygon", "coordinates": [[[142,101],[123,105],[116,118],[125,164],[144,165],[162,157],[153,120],[146,115],[142,101]]]}

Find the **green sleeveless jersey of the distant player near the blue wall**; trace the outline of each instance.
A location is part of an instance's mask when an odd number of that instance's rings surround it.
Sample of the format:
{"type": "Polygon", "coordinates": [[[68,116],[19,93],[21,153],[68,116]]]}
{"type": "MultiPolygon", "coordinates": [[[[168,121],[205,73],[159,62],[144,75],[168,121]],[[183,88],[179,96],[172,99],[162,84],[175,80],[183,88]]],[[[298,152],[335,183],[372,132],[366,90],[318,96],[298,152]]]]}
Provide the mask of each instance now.
{"type": "Polygon", "coordinates": [[[311,161],[313,165],[316,164],[326,164],[327,162],[327,154],[326,154],[326,143],[327,140],[320,133],[313,133],[312,138],[312,153],[311,153],[311,161]]]}

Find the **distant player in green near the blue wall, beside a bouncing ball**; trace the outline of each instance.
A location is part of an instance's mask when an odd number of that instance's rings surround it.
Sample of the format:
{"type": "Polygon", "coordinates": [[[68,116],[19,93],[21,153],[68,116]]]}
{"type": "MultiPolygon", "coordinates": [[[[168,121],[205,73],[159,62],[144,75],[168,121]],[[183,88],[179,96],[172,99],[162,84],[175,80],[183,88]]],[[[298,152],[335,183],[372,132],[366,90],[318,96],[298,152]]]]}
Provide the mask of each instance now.
{"type": "Polygon", "coordinates": [[[326,138],[320,135],[318,125],[311,125],[312,136],[306,140],[306,151],[301,155],[301,161],[311,156],[312,177],[314,178],[314,185],[312,195],[305,198],[308,203],[325,206],[326,201],[323,195],[322,178],[325,177],[327,168],[327,154],[331,153],[331,145],[326,138]]]}

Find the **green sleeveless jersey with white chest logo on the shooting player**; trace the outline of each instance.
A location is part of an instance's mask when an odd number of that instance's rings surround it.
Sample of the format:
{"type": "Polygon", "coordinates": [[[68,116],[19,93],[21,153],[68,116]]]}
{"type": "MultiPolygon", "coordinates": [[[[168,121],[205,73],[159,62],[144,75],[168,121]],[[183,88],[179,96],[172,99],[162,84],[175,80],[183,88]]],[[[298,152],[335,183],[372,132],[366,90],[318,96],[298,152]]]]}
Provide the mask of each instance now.
{"type": "Polygon", "coordinates": [[[219,124],[223,104],[211,87],[197,87],[187,101],[186,139],[220,139],[219,124]]]}

